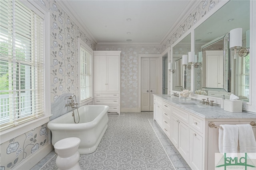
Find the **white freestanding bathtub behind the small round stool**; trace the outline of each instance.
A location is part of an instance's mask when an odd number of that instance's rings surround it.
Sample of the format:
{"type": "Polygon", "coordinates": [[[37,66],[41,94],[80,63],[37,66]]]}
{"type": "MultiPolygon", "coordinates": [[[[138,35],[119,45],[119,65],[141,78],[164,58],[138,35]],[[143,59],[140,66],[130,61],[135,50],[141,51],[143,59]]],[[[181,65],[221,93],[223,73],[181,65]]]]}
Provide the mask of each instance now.
{"type": "MultiPolygon", "coordinates": [[[[94,152],[108,127],[108,106],[86,105],[78,108],[80,122],[74,123],[72,111],[51,120],[47,127],[52,132],[52,145],[61,139],[78,137],[80,154],[94,152]]],[[[74,109],[78,120],[77,109],[74,109]]]]}

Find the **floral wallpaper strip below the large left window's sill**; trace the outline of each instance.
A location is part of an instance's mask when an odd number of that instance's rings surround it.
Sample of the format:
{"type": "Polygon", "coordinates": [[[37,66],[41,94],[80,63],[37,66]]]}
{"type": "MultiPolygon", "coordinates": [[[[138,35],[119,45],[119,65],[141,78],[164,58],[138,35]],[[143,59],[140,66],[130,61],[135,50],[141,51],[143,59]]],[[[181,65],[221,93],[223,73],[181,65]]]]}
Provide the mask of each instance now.
{"type": "Polygon", "coordinates": [[[10,170],[48,143],[46,124],[0,145],[0,170],[10,170]]]}

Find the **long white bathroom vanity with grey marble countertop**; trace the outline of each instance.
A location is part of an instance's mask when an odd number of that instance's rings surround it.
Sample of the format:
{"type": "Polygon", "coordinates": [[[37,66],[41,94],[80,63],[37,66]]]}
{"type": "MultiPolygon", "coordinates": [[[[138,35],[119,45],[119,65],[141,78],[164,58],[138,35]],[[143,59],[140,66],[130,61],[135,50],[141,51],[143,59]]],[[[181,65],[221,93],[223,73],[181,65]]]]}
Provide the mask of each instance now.
{"type": "Polygon", "coordinates": [[[214,170],[218,128],[209,127],[209,123],[248,124],[256,121],[256,114],[231,113],[198,100],[154,95],[154,120],[193,170],[214,170]]]}

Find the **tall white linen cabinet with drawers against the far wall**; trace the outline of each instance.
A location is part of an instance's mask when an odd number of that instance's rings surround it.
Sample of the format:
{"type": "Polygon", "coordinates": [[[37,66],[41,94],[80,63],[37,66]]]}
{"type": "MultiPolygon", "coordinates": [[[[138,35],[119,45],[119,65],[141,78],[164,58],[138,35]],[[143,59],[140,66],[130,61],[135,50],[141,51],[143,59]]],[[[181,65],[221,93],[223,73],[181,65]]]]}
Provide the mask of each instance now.
{"type": "Polygon", "coordinates": [[[120,114],[121,51],[93,51],[94,104],[109,106],[108,112],[120,114]]]}

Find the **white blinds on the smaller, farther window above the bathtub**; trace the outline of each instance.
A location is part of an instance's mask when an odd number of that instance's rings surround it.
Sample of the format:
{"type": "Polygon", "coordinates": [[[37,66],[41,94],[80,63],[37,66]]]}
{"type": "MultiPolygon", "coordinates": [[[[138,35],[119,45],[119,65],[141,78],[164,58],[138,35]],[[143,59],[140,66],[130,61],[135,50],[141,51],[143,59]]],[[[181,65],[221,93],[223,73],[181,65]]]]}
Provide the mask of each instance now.
{"type": "Polygon", "coordinates": [[[80,46],[80,102],[92,98],[92,54],[80,46]]]}

